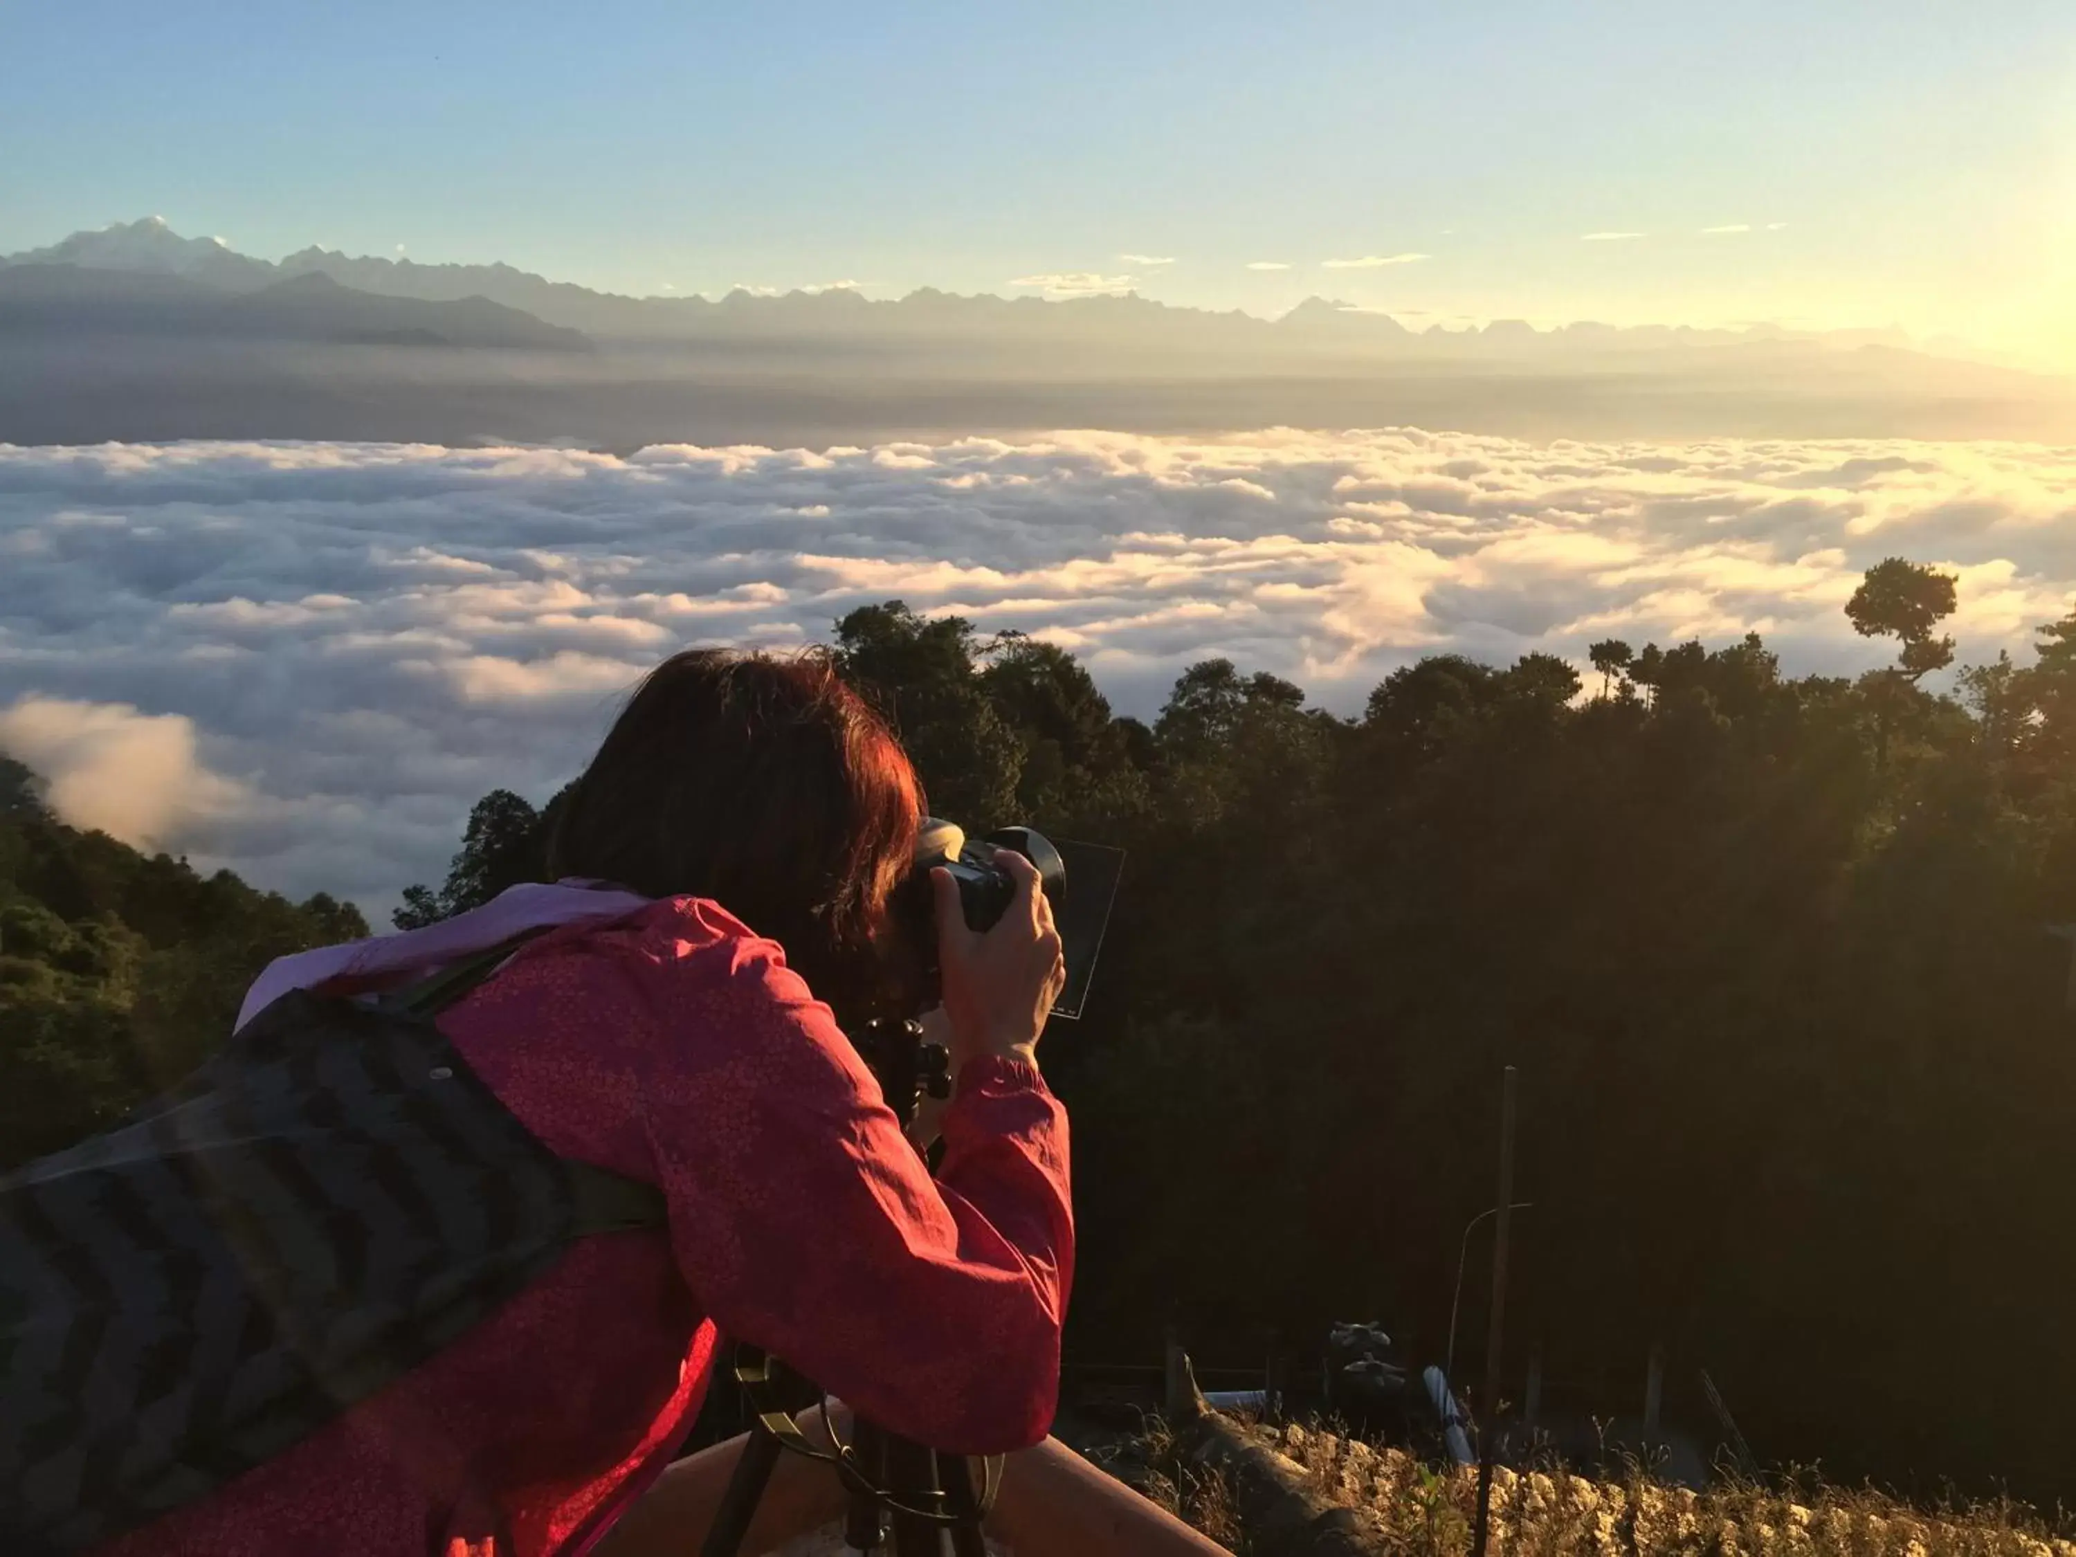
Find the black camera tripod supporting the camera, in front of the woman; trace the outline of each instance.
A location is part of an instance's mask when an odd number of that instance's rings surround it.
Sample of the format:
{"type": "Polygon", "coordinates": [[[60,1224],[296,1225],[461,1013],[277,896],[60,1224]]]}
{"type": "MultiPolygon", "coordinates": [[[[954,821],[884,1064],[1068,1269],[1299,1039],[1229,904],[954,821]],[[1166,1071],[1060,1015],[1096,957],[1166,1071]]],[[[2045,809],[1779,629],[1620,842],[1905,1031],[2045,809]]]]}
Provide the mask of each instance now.
{"type": "MultiPolygon", "coordinates": [[[[913,1123],[924,1092],[934,1098],[951,1096],[951,1057],[943,1044],[922,1042],[918,1023],[870,1021],[851,1034],[851,1042],[878,1077],[903,1129],[913,1123]]],[[[756,1420],[700,1557],[741,1553],[758,1499],[764,1497],[778,1455],[787,1451],[822,1459],[843,1478],[851,1495],[843,1540],[853,1551],[884,1551],[891,1524],[895,1557],[943,1557],[947,1532],[955,1557],[986,1555],[980,1522],[994,1503],[999,1457],[986,1462],[986,1484],[976,1491],[972,1464],[963,1455],[940,1455],[864,1418],[857,1418],[851,1441],[841,1443],[828,1420],[826,1397],[822,1420],[835,1449],[822,1451],[808,1441],[783,1403],[787,1383],[795,1381],[783,1362],[756,1347],[737,1347],[733,1372],[749,1395],[756,1420]]]]}

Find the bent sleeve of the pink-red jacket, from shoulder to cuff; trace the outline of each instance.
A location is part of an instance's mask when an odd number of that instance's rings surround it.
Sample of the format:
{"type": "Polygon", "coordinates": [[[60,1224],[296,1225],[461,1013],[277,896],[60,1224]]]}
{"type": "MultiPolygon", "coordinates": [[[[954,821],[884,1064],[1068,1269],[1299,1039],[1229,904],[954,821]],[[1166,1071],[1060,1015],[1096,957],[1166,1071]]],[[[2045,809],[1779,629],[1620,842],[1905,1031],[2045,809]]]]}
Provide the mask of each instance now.
{"type": "Polygon", "coordinates": [[[1044,1439],[1073,1277],[1067,1115],[1030,1065],[959,1077],[932,1181],[770,943],[656,992],[644,1113],[671,1239],[722,1333],[955,1453],[1044,1439]]]}

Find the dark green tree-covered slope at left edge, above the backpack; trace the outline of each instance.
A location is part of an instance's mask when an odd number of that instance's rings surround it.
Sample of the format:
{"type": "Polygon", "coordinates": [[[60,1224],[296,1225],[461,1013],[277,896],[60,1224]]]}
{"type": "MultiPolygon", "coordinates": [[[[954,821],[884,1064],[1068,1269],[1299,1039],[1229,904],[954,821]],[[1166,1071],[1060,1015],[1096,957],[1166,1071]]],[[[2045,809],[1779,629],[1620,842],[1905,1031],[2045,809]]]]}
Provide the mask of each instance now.
{"type": "Polygon", "coordinates": [[[297,905],[62,826],[39,789],[0,758],[0,1167],[191,1071],[270,959],[367,934],[324,893],[297,905]]]}

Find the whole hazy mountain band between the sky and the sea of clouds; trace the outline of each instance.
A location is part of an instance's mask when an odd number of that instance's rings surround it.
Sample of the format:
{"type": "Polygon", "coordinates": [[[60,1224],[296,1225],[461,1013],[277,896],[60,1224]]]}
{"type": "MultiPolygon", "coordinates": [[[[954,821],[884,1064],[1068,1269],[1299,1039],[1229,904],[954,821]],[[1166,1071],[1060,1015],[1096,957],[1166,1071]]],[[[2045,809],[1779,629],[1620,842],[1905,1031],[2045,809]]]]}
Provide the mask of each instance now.
{"type": "Polygon", "coordinates": [[[2076,390],[1900,330],[1410,330],[1320,297],[1277,320],[1136,295],[619,297],[502,264],[253,260],[158,218],[0,257],[0,442],[828,446],[1273,426],[2066,442],[2076,390]]]}

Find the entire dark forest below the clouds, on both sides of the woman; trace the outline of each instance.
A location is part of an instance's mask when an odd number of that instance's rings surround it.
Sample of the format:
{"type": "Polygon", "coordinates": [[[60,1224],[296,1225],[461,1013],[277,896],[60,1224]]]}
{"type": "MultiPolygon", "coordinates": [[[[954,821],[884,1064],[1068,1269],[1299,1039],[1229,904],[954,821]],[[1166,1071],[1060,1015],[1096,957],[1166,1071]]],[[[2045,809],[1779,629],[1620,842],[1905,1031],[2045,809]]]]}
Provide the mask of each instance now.
{"type": "MultiPolygon", "coordinates": [[[[1071,1356],[1374,1316],[1439,1358],[1511,1063],[1515,1376],[1536,1351],[1628,1401],[1663,1343],[1669,1408],[1706,1368],[1769,1459],[2064,1491],[2076,612],[1941,693],[1954,602],[1870,569],[1848,614],[1897,658],[1860,679],[1756,633],[1607,639],[1584,683],[1430,656],[1343,718],[1206,660],[1150,725],[1040,639],[839,621],[936,814],[1129,851],[1090,1013],[1044,1048],[1071,1356]]],[[[536,878],[552,805],[486,795],[399,924],[536,878]]],[[[10,766],[0,932],[21,1160],[191,1063],[266,957],[361,926],[64,828],[10,766]]]]}

